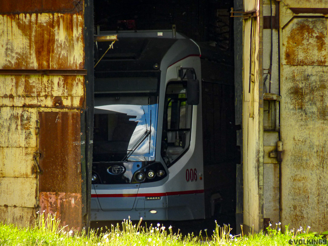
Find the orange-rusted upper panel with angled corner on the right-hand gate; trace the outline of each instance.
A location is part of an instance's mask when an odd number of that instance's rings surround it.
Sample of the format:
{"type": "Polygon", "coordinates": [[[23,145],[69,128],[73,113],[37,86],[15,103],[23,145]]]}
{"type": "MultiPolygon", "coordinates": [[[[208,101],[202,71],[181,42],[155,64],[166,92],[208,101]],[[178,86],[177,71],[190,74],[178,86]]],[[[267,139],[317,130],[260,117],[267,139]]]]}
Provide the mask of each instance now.
{"type": "Polygon", "coordinates": [[[286,64],[327,65],[327,21],[295,19],[290,25],[284,41],[286,64]]]}

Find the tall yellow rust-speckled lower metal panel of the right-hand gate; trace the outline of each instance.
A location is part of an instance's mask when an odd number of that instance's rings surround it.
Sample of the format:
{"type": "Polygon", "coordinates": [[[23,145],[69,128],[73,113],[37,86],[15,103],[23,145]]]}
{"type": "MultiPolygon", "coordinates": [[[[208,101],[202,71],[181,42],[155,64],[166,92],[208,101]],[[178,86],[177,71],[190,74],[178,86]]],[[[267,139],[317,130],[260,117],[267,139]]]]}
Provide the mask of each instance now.
{"type": "Polygon", "coordinates": [[[328,229],[328,67],[283,66],[282,222],[328,229]]]}

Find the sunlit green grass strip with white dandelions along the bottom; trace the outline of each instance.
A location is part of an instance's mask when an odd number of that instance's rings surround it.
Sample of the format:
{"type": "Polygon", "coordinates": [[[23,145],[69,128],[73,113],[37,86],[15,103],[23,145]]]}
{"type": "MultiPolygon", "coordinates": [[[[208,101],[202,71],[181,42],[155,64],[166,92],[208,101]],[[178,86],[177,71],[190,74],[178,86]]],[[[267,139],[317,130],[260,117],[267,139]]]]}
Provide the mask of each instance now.
{"type": "MultiPolygon", "coordinates": [[[[165,228],[160,224],[151,224],[148,228],[140,226],[141,220],[137,225],[133,225],[130,220],[124,220],[120,229],[119,225],[111,228],[91,231],[86,235],[85,231],[76,232],[67,227],[59,228],[59,220],[55,215],[38,215],[34,227],[17,227],[13,224],[0,223],[0,245],[83,245],[83,246],[107,246],[107,245],[131,245],[131,246],[162,246],[162,245],[229,245],[229,246],[248,246],[248,245],[290,245],[290,239],[326,239],[325,235],[318,235],[310,232],[310,227],[298,230],[285,228],[285,233],[280,231],[280,223],[276,227],[268,228],[268,233],[251,233],[249,235],[230,234],[230,226],[216,228],[211,235],[199,233],[199,235],[188,234],[182,236],[179,232],[173,233],[172,227],[165,228]],[[206,235],[205,237],[202,235],[206,235]],[[211,238],[211,239],[209,239],[211,238]]],[[[324,233],[325,234],[325,233],[324,233]]],[[[303,243],[304,244],[304,243],[303,243]]]]}

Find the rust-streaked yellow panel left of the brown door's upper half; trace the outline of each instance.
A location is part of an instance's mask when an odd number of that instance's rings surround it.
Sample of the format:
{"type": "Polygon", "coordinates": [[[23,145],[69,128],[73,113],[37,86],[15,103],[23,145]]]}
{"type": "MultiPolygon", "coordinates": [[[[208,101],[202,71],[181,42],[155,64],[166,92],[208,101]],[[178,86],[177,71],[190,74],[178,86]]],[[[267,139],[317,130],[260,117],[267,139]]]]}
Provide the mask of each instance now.
{"type": "Polygon", "coordinates": [[[0,147],[36,147],[36,109],[0,107],[0,147]]]}

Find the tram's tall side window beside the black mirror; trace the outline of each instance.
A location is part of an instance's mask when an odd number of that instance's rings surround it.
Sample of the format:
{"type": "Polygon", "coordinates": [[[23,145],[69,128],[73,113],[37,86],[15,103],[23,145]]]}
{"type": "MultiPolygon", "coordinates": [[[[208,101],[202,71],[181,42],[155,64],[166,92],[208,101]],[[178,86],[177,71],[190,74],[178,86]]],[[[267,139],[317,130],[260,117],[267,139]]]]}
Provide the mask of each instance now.
{"type": "Polygon", "coordinates": [[[187,104],[186,88],[171,82],[165,94],[161,155],[168,166],[174,164],[190,145],[192,105],[187,104]]]}

